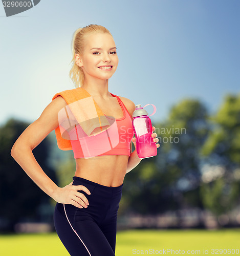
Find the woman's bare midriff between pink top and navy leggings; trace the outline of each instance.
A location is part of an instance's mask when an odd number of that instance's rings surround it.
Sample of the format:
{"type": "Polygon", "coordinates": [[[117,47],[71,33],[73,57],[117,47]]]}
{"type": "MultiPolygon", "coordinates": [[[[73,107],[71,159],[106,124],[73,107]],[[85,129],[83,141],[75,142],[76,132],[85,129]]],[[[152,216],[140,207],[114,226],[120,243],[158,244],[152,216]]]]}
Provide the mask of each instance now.
{"type": "Polygon", "coordinates": [[[126,174],[128,158],[127,155],[77,158],[75,176],[108,187],[120,186],[126,174]]]}

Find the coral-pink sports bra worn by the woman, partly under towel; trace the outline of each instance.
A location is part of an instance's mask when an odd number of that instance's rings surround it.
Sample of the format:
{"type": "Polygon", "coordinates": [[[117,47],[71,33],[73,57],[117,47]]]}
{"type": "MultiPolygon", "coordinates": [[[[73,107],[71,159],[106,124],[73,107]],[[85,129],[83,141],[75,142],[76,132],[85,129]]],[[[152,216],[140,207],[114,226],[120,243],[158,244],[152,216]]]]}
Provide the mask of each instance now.
{"type": "MultiPolygon", "coordinates": [[[[112,94],[112,93],[111,93],[112,94]]],[[[134,136],[132,117],[121,99],[117,97],[123,111],[123,117],[114,118],[106,116],[111,126],[107,130],[89,137],[78,124],[70,131],[74,133],[74,140],[71,141],[74,158],[91,158],[104,155],[128,155],[130,156],[130,142],[134,136]]]]}

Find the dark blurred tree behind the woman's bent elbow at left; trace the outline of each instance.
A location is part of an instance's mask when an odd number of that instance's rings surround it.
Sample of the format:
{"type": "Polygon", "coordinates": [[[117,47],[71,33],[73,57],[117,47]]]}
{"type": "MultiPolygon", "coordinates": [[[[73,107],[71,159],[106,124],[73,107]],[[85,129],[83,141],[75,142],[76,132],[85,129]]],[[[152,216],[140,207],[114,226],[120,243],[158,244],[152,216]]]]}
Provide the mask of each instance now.
{"type": "MultiPolygon", "coordinates": [[[[11,148],[29,124],[9,119],[0,127],[0,216],[5,220],[6,229],[13,231],[14,225],[23,220],[40,220],[40,204],[49,204],[45,194],[24,172],[10,155],[11,148]]],[[[48,138],[33,150],[33,154],[44,172],[56,182],[54,170],[48,164],[48,138]]]]}

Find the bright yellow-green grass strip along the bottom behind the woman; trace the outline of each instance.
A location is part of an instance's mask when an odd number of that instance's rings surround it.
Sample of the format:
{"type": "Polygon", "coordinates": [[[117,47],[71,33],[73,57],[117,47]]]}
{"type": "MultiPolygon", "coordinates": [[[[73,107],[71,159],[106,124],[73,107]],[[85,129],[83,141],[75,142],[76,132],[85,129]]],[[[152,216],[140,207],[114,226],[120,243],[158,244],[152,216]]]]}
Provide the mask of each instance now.
{"type": "MultiPolygon", "coordinates": [[[[127,230],[118,231],[116,255],[233,254],[220,249],[240,250],[240,229],[222,230],[127,230]],[[214,253],[212,251],[214,249],[214,253]],[[217,251],[218,249],[219,251],[217,251]],[[155,253],[153,253],[155,250],[155,253]],[[167,253],[163,253],[165,250],[167,253]],[[178,250],[178,252],[176,252],[178,250]],[[181,253],[180,251],[181,250],[181,253]],[[193,250],[187,253],[187,250],[193,250]],[[134,253],[135,252],[135,253],[134,253]],[[151,253],[150,253],[151,252],[151,253]],[[217,253],[218,252],[218,253],[217,253]],[[206,254],[206,253],[205,253],[206,254]]],[[[232,250],[232,252],[234,252],[232,250]]],[[[236,255],[240,255],[240,251],[236,255]]],[[[56,233],[0,235],[0,255],[68,256],[56,233]]],[[[80,256],[80,255],[79,255],[80,256]]],[[[95,256],[95,255],[94,255],[95,256]]],[[[107,256],[107,255],[106,255],[107,256]]]]}

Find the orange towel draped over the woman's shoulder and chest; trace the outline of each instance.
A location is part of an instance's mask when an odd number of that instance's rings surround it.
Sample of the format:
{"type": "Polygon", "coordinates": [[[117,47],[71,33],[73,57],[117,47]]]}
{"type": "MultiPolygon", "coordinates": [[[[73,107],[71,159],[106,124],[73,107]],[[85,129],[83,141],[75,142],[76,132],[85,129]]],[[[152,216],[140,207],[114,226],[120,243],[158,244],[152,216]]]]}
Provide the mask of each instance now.
{"type": "Polygon", "coordinates": [[[67,106],[58,112],[59,126],[55,129],[57,145],[60,150],[72,150],[68,132],[79,124],[88,136],[95,136],[111,126],[93,97],[82,88],[56,93],[62,96],[67,106]]]}

